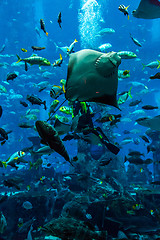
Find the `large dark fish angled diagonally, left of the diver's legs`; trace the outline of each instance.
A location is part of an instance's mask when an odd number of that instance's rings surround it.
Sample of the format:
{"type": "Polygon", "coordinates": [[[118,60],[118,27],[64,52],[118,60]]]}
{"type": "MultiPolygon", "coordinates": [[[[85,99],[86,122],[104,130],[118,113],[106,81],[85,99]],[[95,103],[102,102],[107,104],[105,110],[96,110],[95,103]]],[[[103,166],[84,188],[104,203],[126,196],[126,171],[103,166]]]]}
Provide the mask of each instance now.
{"type": "Polygon", "coordinates": [[[43,142],[49,145],[51,149],[59,153],[62,157],[64,157],[66,161],[72,165],[65,146],[55,128],[45,121],[36,121],[36,128],[43,142]]]}

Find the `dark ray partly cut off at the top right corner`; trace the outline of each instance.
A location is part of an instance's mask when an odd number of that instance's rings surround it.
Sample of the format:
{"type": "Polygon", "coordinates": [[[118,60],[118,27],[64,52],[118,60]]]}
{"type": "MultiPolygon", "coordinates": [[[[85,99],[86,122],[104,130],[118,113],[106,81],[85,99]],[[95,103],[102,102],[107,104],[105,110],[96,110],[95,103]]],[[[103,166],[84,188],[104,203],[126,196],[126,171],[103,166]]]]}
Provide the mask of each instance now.
{"type": "Polygon", "coordinates": [[[154,19],[160,18],[159,0],[141,0],[137,10],[132,12],[136,18],[154,19]]]}

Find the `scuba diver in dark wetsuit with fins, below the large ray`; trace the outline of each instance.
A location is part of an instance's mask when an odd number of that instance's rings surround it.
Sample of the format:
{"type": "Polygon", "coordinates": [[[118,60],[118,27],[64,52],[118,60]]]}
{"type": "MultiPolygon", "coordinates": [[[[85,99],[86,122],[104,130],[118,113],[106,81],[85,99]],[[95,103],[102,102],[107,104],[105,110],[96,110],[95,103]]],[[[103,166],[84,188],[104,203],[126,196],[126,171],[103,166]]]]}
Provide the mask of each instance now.
{"type": "MultiPolygon", "coordinates": [[[[74,121],[74,118],[78,116],[78,123],[76,126],[75,133],[66,135],[63,138],[63,141],[71,140],[72,138],[75,138],[75,139],[81,138],[79,137],[78,133],[83,133],[84,136],[89,135],[90,133],[93,133],[99,138],[100,142],[104,144],[109,151],[117,155],[120,149],[114,144],[110,143],[109,139],[103,133],[100,127],[96,127],[96,128],[94,127],[93,121],[92,121],[94,113],[89,103],[75,101],[72,105],[72,108],[73,108],[73,114],[72,114],[73,121],[74,121]]],[[[86,140],[85,137],[82,139],[86,140]]]]}

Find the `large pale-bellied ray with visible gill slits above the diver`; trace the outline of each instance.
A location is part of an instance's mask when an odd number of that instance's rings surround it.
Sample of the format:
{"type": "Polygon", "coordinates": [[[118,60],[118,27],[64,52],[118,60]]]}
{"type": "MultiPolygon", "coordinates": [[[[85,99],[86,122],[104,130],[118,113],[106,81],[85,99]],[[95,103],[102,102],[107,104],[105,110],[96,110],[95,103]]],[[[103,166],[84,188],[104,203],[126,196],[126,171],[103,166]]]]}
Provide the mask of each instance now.
{"type": "Polygon", "coordinates": [[[66,99],[99,102],[118,107],[118,66],[121,57],[115,52],[102,53],[84,49],[73,53],[68,64],[66,99]]]}

